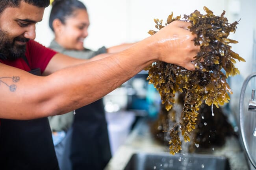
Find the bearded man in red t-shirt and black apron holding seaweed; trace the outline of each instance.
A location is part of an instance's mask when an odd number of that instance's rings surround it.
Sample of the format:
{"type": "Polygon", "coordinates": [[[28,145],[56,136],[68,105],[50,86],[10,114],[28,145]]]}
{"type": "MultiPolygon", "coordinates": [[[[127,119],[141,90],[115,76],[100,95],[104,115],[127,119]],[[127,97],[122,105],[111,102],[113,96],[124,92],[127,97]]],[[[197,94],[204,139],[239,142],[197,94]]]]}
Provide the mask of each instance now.
{"type": "Polygon", "coordinates": [[[194,69],[199,47],[182,21],[113,55],[81,60],[56,53],[33,40],[48,5],[0,1],[1,170],[59,169],[47,116],[100,99],[157,60],[194,69]]]}

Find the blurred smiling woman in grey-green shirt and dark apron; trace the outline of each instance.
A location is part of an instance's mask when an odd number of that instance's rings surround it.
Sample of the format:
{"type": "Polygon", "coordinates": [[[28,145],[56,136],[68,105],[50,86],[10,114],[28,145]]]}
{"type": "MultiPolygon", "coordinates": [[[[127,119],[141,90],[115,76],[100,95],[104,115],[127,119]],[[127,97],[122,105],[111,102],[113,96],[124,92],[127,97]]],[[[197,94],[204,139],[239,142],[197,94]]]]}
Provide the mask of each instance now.
{"type": "MultiPolygon", "coordinates": [[[[55,0],[49,26],[55,38],[50,48],[76,58],[89,59],[107,53],[102,47],[97,51],[85,49],[83,41],[90,25],[85,5],[78,0],[55,0]]],[[[108,126],[102,99],[64,115],[49,117],[53,131],[56,155],[61,170],[80,170],[86,167],[102,170],[109,159],[108,126]],[[59,141],[58,134],[65,134],[59,141]],[[55,140],[56,139],[56,140],[55,140]]]]}

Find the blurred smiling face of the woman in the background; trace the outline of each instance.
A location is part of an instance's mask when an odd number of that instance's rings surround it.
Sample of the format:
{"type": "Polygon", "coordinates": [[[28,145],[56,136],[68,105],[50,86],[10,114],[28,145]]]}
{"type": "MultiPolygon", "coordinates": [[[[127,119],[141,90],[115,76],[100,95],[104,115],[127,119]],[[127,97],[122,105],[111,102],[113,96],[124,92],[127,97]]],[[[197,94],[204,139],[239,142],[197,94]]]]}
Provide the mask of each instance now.
{"type": "Polygon", "coordinates": [[[83,40],[88,36],[89,16],[85,9],[76,9],[61,23],[56,41],[66,49],[83,50],[83,40]]]}

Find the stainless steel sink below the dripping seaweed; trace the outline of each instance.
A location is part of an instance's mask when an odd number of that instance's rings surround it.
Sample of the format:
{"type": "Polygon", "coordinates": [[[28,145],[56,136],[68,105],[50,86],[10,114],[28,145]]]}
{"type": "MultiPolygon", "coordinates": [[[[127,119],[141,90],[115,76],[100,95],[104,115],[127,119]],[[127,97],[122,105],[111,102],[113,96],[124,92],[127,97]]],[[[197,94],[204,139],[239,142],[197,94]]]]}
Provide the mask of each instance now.
{"type": "Polygon", "coordinates": [[[206,154],[137,153],[124,170],[230,170],[226,157],[206,154]]]}

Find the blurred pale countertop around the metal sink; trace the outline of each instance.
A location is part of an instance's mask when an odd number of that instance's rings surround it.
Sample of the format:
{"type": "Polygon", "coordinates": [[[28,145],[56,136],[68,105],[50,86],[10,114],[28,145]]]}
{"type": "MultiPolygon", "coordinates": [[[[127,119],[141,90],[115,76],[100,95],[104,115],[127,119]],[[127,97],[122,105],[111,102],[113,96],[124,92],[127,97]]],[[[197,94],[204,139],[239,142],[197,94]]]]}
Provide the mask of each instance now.
{"type": "MultiPolygon", "coordinates": [[[[152,136],[147,119],[140,119],[136,123],[126,142],[115,152],[104,170],[123,170],[132,154],[138,152],[169,152],[168,146],[163,146],[152,136]]],[[[235,137],[228,137],[222,147],[204,150],[200,154],[225,156],[230,162],[231,170],[249,170],[245,154],[235,137]]]]}

